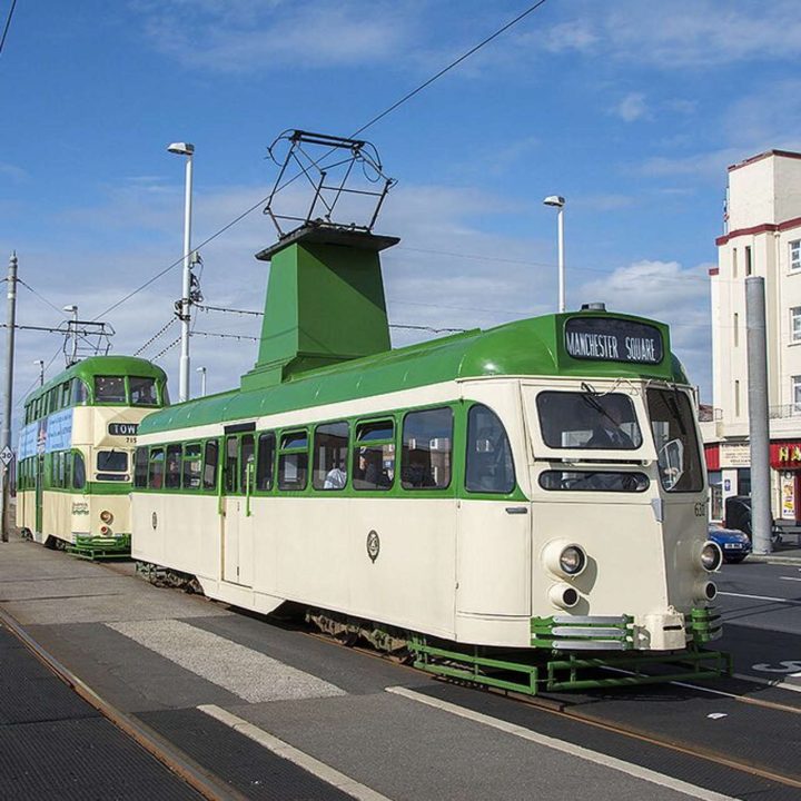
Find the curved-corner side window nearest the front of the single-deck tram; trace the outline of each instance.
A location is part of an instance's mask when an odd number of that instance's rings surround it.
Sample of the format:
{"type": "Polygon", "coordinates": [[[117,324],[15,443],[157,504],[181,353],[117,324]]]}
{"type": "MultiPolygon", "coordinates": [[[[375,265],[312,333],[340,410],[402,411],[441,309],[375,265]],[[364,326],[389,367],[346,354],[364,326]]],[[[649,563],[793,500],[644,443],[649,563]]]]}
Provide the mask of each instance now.
{"type": "Polygon", "coordinates": [[[468,492],[511,493],[515,486],[514,463],[506,429],[498,416],[476,404],[467,415],[468,492]]]}

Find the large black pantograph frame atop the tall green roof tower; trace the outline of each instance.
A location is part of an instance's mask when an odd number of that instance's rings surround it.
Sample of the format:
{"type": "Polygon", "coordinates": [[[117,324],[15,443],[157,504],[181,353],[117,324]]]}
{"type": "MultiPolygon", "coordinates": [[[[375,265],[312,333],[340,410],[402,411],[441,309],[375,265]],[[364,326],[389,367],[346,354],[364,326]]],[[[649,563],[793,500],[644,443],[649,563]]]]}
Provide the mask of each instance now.
{"type": "Polygon", "coordinates": [[[369,234],[386,194],[397,182],[384,175],[378,151],[363,139],[286,130],[267,148],[267,152],[280,167],[280,171],[264,212],[270,216],[281,239],[294,230],[285,230],[286,222],[297,222],[296,228],[313,226],[369,234]],[[287,150],[281,159],[278,151],[284,147],[287,150]],[[290,165],[299,167],[300,172],[284,180],[290,165]],[[360,170],[356,167],[360,167],[360,170]],[[275,205],[276,196],[301,177],[314,191],[312,204],[304,212],[301,198],[297,194],[284,192],[281,201],[288,209],[279,214],[275,205]],[[349,216],[352,220],[367,221],[338,221],[335,212],[340,219],[349,216]]]}

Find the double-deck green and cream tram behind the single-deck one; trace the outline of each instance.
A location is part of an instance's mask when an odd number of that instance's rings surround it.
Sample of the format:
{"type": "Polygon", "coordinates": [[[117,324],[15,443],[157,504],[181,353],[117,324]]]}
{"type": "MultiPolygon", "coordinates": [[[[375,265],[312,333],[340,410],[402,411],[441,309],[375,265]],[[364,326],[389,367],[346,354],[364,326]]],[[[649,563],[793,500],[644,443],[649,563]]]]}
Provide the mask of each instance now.
{"type": "Polygon", "coordinates": [[[166,403],[164,370],[129,356],[78,362],[26,398],[17,456],[23,533],[90,557],[129,553],[137,431],[166,403]]]}

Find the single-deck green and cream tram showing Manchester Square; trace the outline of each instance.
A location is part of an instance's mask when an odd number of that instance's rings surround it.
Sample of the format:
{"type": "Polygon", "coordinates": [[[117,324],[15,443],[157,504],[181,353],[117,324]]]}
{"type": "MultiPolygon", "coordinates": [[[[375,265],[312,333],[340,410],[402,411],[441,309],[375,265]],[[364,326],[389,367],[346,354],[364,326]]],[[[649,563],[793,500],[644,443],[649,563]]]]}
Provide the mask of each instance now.
{"type": "Polygon", "coordinates": [[[668,327],[599,307],[393,350],[394,241],[309,226],[259,254],[254,369],[140,427],[132,555],[487,684],[725,670],[702,647],[721,553],[668,327]]]}

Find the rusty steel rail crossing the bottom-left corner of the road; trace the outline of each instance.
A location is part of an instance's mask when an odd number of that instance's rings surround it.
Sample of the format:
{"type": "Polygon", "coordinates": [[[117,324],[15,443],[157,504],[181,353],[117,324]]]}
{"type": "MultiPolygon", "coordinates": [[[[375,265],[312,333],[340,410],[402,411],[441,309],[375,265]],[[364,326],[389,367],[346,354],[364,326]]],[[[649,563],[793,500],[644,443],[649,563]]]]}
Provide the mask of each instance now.
{"type": "Polygon", "coordinates": [[[185,781],[202,798],[208,801],[247,801],[246,795],[225,784],[224,780],[204,769],[158,732],[101,698],[51,653],[46,651],[3,609],[0,609],[0,624],[4,625],[48,670],[93,706],[103,718],[145,749],[171,773],[185,781]]]}

